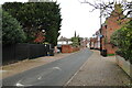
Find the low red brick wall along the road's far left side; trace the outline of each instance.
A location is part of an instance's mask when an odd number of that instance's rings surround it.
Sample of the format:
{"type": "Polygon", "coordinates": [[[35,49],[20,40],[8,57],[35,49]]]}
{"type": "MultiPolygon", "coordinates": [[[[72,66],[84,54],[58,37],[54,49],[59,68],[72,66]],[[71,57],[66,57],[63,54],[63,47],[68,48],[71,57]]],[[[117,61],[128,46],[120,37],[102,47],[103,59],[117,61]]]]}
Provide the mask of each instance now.
{"type": "Polygon", "coordinates": [[[79,51],[79,47],[73,47],[72,45],[62,45],[62,53],[73,53],[79,51]]]}

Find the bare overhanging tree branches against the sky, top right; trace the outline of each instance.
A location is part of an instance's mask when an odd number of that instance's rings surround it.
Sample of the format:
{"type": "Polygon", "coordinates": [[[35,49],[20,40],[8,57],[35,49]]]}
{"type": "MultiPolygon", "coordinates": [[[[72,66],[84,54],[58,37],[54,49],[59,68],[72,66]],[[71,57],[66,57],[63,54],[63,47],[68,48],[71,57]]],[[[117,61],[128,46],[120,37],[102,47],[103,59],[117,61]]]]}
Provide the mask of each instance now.
{"type": "Polygon", "coordinates": [[[94,9],[91,10],[91,12],[97,9],[101,10],[100,16],[101,15],[109,16],[111,14],[111,12],[114,10],[114,4],[120,4],[123,9],[120,13],[117,12],[118,15],[122,15],[124,12],[127,13],[125,16],[119,18],[119,19],[125,19],[125,18],[128,18],[128,15],[132,14],[132,1],[129,2],[125,0],[120,0],[120,1],[113,0],[111,2],[110,1],[109,2],[100,1],[100,2],[91,3],[88,0],[85,0],[81,3],[88,3],[88,4],[92,6],[94,9]]]}

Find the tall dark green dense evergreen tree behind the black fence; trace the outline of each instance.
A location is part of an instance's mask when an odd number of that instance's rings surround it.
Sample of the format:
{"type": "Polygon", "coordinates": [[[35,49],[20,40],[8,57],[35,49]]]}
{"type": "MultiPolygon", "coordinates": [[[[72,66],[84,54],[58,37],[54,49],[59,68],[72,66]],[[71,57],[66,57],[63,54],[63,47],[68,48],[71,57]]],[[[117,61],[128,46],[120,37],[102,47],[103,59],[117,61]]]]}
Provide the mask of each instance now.
{"type": "Polygon", "coordinates": [[[7,2],[2,8],[21,22],[26,42],[33,43],[36,34],[45,30],[45,42],[57,44],[62,19],[56,2],[7,2]]]}

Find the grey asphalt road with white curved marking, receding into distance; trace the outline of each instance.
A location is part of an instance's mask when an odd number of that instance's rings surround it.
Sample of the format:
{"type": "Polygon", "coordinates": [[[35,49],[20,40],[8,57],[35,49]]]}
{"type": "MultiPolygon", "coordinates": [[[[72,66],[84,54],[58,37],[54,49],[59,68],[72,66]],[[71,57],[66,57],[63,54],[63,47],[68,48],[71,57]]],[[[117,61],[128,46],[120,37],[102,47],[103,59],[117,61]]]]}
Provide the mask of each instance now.
{"type": "Polygon", "coordinates": [[[2,80],[3,86],[64,86],[92,54],[88,48],[2,80]]]}

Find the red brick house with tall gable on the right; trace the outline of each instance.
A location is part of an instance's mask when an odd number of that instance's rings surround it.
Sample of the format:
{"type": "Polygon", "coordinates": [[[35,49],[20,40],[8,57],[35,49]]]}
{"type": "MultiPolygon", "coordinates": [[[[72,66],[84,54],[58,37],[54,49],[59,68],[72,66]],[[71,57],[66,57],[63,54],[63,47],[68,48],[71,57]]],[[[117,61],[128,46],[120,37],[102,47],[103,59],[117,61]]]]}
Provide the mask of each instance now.
{"type": "Polygon", "coordinates": [[[100,29],[101,37],[101,50],[107,50],[107,54],[114,54],[117,47],[110,43],[110,36],[112,33],[119,29],[121,29],[128,19],[121,20],[123,16],[121,14],[121,6],[116,4],[114,10],[111,12],[111,15],[106,19],[106,22],[102,24],[100,29]]]}

